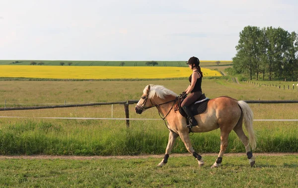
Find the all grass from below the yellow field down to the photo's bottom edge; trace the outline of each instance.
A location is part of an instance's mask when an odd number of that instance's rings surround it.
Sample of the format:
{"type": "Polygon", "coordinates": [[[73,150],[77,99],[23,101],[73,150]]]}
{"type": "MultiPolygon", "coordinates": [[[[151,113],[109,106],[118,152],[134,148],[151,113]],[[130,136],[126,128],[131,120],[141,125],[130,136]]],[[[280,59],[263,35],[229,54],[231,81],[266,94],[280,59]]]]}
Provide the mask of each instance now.
{"type": "MultiPolygon", "coordinates": [[[[241,83],[241,82],[240,82],[241,83]]],[[[148,84],[181,93],[187,79],[139,81],[0,81],[0,107],[124,101],[139,99],[148,84]]],[[[228,95],[238,100],[297,100],[298,90],[233,83],[230,77],[203,80],[210,98],[228,95]]],[[[297,119],[297,104],[250,104],[255,119],[297,119]]],[[[142,115],[129,105],[131,118],[159,118],[157,109],[142,115]]],[[[34,117],[112,117],[111,105],[0,111],[0,155],[115,156],[164,154],[168,130],[161,120],[36,119],[34,117]],[[28,118],[29,117],[29,118],[28,118]]],[[[124,106],[113,105],[113,117],[125,118],[124,106]]],[[[223,166],[210,169],[220,150],[220,131],[190,136],[205,166],[189,154],[139,159],[0,159],[0,187],[297,187],[298,156],[264,156],[261,152],[298,152],[298,122],[254,121],[256,165],[250,168],[245,149],[234,132],[229,136],[223,166]],[[206,153],[215,153],[208,155],[206,153]]],[[[187,153],[178,138],[173,153],[187,153]]]]}

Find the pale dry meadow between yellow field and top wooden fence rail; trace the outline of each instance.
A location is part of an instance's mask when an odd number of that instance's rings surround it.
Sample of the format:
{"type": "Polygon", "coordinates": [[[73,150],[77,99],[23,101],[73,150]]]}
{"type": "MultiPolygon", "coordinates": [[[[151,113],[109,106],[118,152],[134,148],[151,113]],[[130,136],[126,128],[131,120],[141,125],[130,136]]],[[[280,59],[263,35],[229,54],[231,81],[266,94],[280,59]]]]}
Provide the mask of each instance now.
{"type": "MultiPolygon", "coordinates": [[[[181,80],[144,81],[0,81],[0,106],[66,102],[112,102],[140,99],[149,84],[163,85],[176,94],[184,91],[189,82],[181,80]],[[113,86],[113,87],[111,87],[113,86]]],[[[252,84],[236,84],[228,77],[208,79],[204,77],[203,93],[210,98],[228,95],[238,100],[298,100],[297,90],[279,90],[252,84]],[[227,80],[226,80],[227,79],[227,80]]],[[[2,112],[1,112],[2,113],[2,112]]],[[[15,113],[15,112],[13,112],[15,113]]]]}

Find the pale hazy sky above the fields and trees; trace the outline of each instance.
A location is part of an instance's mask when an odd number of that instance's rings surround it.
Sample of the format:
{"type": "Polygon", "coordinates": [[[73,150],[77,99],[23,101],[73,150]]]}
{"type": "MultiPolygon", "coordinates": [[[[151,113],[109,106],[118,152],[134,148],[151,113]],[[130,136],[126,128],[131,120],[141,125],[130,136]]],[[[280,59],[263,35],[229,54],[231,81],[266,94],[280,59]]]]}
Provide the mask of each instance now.
{"type": "Polygon", "coordinates": [[[0,0],[0,60],[231,60],[245,26],[297,17],[298,0],[0,0]]]}

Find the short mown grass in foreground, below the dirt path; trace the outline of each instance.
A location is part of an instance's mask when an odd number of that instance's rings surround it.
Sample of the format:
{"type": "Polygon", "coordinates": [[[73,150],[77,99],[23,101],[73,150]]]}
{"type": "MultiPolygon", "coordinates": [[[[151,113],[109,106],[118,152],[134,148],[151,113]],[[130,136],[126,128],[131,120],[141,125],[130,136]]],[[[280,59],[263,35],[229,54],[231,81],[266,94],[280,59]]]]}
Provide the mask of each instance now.
{"type": "Polygon", "coordinates": [[[228,156],[223,166],[210,169],[216,156],[196,160],[171,157],[163,168],[161,159],[100,160],[1,160],[1,187],[288,187],[298,186],[298,156],[257,156],[250,168],[245,154],[228,156]]]}

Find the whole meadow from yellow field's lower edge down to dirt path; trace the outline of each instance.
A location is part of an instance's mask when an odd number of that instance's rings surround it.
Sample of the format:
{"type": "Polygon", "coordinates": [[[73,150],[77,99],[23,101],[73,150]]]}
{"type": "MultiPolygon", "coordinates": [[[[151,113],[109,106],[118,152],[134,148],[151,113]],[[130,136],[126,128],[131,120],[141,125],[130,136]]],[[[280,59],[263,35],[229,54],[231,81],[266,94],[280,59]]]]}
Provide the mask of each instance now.
{"type": "MultiPolygon", "coordinates": [[[[228,95],[237,99],[298,99],[297,91],[281,91],[251,84],[235,84],[223,78],[206,79],[203,91],[210,97],[228,95]]],[[[148,84],[164,85],[178,93],[185,90],[185,80],[155,80],[126,82],[49,82],[0,81],[0,101],[4,106],[40,105],[40,103],[105,102],[139,99],[148,84]]],[[[297,119],[297,104],[250,104],[255,119],[297,119]]],[[[155,108],[142,115],[129,106],[131,118],[159,118],[155,108]]],[[[111,117],[111,106],[90,106],[40,110],[0,111],[0,116],[20,117],[111,117]]],[[[113,117],[125,118],[124,106],[113,105],[113,117]]],[[[125,120],[62,120],[0,118],[1,154],[55,155],[137,155],[164,153],[168,130],[163,121],[125,120]]],[[[298,152],[297,122],[255,121],[258,147],[255,152],[298,152]],[[270,131],[268,131],[270,130],[270,131]]],[[[219,130],[194,134],[193,147],[198,152],[219,152],[219,130]]],[[[179,140],[174,152],[187,152],[179,140]]],[[[244,152],[244,147],[231,133],[227,152],[244,152]]]]}

